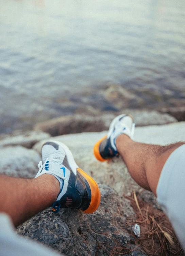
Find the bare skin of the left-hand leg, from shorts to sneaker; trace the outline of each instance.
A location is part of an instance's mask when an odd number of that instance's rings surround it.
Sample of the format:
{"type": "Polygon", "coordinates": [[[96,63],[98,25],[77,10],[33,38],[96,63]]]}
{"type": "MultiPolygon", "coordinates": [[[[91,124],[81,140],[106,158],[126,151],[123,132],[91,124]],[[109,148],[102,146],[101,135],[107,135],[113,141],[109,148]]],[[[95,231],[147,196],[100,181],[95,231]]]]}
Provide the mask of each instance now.
{"type": "Polygon", "coordinates": [[[60,192],[58,180],[44,174],[36,179],[0,175],[0,212],[10,215],[15,226],[51,206],[60,192]]]}

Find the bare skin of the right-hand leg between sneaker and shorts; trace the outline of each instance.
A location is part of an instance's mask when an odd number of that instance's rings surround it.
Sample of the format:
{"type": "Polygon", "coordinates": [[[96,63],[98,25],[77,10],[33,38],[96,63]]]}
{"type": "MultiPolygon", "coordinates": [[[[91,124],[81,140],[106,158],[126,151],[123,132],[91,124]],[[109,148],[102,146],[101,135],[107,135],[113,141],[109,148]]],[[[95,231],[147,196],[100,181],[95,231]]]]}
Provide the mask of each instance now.
{"type": "Polygon", "coordinates": [[[142,187],[152,191],[156,188],[163,166],[169,155],[185,142],[168,146],[149,145],[135,142],[121,134],[116,140],[116,147],[127,165],[132,178],[142,187]]]}

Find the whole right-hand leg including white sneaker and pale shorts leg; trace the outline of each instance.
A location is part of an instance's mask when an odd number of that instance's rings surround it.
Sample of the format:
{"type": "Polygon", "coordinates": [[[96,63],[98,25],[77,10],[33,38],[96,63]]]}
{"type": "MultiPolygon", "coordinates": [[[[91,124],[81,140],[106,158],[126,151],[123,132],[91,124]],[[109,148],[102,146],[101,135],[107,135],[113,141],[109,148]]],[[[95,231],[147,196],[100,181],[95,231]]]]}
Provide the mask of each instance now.
{"type": "Polygon", "coordinates": [[[132,178],[157,196],[185,249],[185,142],[167,146],[132,140],[133,118],[116,117],[107,136],[94,146],[97,160],[106,161],[120,154],[132,178]]]}

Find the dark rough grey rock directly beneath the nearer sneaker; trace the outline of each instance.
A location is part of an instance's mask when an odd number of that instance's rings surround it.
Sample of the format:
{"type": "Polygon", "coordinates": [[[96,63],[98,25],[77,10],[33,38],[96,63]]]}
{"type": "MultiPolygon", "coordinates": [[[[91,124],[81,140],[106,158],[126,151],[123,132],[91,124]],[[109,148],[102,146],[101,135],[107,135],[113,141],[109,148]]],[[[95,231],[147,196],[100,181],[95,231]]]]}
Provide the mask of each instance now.
{"type": "MultiPolygon", "coordinates": [[[[61,209],[54,214],[48,208],[20,225],[18,234],[68,256],[108,256],[105,249],[111,249],[107,245],[134,249],[134,236],[123,229],[126,217],[135,215],[130,201],[110,187],[100,186],[100,190],[101,203],[95,213],[61,209]]],[[[137,247],[130,255],[146,254],[137,247]]]]}

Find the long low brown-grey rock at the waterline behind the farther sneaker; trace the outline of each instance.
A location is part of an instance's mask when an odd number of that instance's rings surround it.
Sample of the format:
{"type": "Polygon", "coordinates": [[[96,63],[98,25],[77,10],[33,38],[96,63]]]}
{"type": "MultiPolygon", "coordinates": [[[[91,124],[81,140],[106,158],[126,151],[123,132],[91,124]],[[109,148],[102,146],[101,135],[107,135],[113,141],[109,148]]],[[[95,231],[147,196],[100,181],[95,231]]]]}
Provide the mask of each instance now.
{"type": "MultiPolygon", "coordinates": [[[[125,114],[131,114],[137,126],[159,125],[173,123],[177,120],[157,111],[148,110],[124,110],[125,114]]],[[[101,132],[108,130],[111,121],[123,112],[91,112],[91,114],[75,114],[73,116],[63,116],[38,123],[34,126],[36,131],[50,133],[52,136],[81,133],[81,132],[101,132]]]]}

